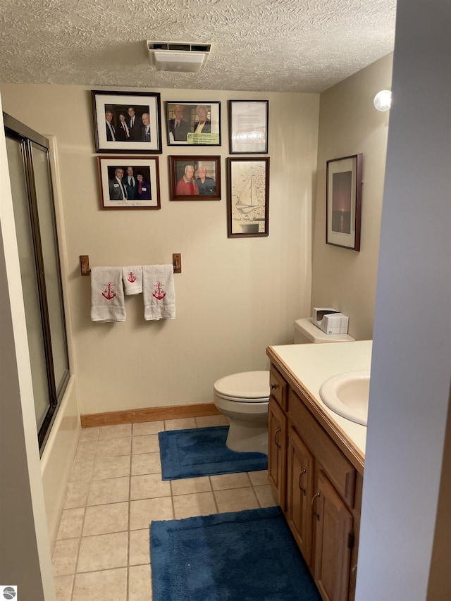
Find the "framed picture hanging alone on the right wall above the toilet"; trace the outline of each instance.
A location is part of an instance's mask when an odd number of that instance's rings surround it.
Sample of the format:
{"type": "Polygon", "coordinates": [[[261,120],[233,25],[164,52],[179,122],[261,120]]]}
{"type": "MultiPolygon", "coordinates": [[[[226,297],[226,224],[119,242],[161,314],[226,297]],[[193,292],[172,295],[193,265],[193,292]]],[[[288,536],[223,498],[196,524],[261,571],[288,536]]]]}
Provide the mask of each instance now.
{"type": "Polygon", "coordinates": [[[326,244],[360,250],[363,155],[326,162],[326,244]]]}

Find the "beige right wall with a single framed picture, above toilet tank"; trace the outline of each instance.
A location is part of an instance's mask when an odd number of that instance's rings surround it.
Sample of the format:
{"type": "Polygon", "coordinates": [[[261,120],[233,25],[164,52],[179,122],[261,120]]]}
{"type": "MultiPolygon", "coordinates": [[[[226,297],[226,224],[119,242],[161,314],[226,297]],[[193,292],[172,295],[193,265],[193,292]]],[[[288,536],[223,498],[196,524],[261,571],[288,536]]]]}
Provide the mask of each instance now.
{"type": "Polygon", "coordinates": [[[373,97],[390,89],[392,60],[392,54],[385,56],[321,94],[311,306],[345,313],[357,340],[373,337],[389,116],[374,109],[373,97]],[[360,152],[362,237],[355,252],[326,244],[326,161],[360,152]]]}

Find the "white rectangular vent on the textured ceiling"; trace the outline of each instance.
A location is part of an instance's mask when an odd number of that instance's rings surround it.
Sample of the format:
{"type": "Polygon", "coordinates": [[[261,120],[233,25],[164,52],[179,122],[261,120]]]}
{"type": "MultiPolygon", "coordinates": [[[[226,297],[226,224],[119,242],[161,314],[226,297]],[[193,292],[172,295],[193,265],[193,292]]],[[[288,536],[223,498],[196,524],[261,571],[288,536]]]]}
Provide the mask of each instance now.
{"type": "Polygon", "coordinates": [[[150,64],[157,71],[197,73],[209,57],[211,44],[190,44],[185,42],[149,42],[147,40],[150,64]]]}

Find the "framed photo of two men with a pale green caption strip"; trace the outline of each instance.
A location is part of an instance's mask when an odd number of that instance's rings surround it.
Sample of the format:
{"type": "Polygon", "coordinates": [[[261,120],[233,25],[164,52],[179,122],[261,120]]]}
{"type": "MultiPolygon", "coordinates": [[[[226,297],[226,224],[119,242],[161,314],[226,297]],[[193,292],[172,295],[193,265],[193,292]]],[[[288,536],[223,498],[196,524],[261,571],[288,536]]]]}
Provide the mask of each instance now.
{"type": "Polygon", "coordinates": [[[221,102],[166,102],[168,146],[221,146],[221,102]]]}

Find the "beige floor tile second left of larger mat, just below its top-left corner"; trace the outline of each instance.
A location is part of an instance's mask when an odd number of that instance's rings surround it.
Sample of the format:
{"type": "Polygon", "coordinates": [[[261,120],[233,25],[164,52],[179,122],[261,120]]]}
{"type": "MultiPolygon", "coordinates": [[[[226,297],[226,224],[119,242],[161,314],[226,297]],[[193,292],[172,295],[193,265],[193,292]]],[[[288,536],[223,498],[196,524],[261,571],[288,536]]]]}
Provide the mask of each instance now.
{"type": "Polygon", "coordinates": [[[77,573],[121,568],[127,565],[128,532],[84,536],[80,543],[77,573]]]}

